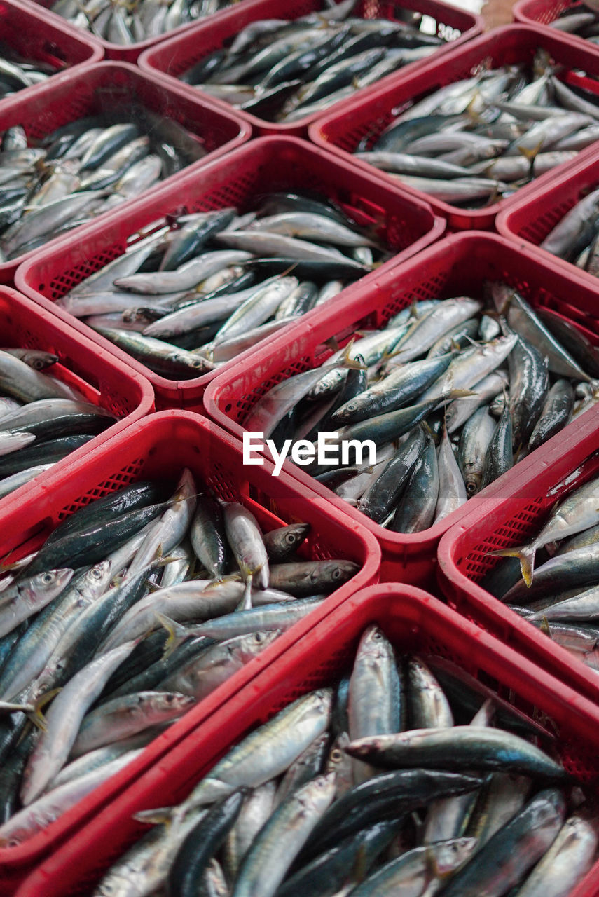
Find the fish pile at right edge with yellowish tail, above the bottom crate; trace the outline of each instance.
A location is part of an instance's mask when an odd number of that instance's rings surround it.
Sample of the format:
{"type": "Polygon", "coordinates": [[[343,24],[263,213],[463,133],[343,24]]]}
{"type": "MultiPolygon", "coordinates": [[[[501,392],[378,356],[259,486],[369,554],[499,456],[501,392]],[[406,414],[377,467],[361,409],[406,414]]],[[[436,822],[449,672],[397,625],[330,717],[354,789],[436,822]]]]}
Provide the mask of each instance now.
{"type": "Polygon", "coordinates": [[[560,501],[529,544],[493,554],[510,560],[482,586],[599,672],[599,479],[560,501]]]}

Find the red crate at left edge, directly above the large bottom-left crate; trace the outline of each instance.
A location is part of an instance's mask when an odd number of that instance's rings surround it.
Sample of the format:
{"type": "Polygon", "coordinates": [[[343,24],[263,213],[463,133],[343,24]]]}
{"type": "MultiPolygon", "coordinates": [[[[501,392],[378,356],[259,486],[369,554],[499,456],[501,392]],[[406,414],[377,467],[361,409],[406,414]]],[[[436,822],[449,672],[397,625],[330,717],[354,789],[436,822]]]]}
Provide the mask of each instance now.
{"type": "Polygon", "coordinates": [[[10,509],[19,507],[40,484],[56,476],[68,478],[69,471],[93,448],[100,448],[130,423],[150,414],[154,410],[154,396],[150,384],[135,370],[126,368],[64,321],[10,287],[0,286],[0,327],[2,346],[54,353],[59,361],[49,369],[52,374],[77,388],[86,401],[100,405],[118,418],[87,445],[0,500],[0,508],[10,509]]]}

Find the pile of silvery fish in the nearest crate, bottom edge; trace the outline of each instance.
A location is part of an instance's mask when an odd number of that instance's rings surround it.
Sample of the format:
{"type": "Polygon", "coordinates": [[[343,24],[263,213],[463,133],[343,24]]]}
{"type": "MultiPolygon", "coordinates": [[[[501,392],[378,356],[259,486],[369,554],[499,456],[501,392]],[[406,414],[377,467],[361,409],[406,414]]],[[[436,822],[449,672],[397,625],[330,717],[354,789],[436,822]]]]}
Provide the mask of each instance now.
{"type": "Polygon", "coordinates": [[[256,728],[182,804],[138,814],[156,826],[93,897],[567,897],[596,810],[534,743],[548,733],[479,687],[443,658],[398,662],[369,626],[335,689],[256,728]]]}

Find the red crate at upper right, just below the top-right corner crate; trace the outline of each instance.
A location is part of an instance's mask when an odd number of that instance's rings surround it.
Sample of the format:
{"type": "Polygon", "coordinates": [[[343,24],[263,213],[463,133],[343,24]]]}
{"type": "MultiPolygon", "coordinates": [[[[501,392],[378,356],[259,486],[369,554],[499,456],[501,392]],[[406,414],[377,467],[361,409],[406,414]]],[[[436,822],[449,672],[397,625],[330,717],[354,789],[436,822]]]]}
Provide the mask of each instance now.
{"type": "MultiPolygon", "coordinates": [[[[561,65],[580,70],[583,69],[592,77],[599,75],[599,54],[591,52],[578,42],[546,29],[528,27],[526,25],[508,25],[505,28],[492,30],[489,34],[475,38],[461,47],[450,49],[438,61],[424,63],[417,72],[402,75],[390,75],[380,86],[364,91],[356,100],[345,100],[339,104],[336,112],[319,118],[308,128],[308,135],[318,146],[323,146],[343,159],[351,158],[360,170],[376,171],[365,161],[354,159],[352,153],[365,135],[373,140],[381,134],[393,118],[404,108],[409,100],[421,97],[446,84],[471,77],[483,66],[514,65],[519,62],[532,62],[534,53],[543,48],[551,58],[561,65]]],[[[585,87],[599,93],[599,84],[586,79],[585,87]]],[[[586,159],[590,153],[596,152],[596,144],[587,147],[578,154],[579,159],[586,159]]],[[[404,186],[412,196],[420,196],[430,203],[435,212],[442,214],[449,227],[465,231],[470,228],[490,231],[493,229],[495,216],[503,209],[511,208],[515,202],[524,201],[534,190],[548,187],[551,182],[568,172],[573,162],[564,162],[557,168],[546,172],[526,187],[520,187],[514,196],[501,199],[484,209],[461,209],[435,199],[421,190],[404,186]]],[[[386,183],[401,183],[383,171],[377,171],[378,177],[386,183]]]]}

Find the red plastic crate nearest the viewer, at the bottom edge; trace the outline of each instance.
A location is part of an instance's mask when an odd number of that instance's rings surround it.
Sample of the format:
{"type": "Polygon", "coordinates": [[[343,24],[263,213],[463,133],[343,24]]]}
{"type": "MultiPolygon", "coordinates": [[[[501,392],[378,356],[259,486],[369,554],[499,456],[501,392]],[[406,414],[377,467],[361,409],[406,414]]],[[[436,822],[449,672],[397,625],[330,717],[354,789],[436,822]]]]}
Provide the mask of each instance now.
{"type": "MultiPolygon", "coordinates": [[[[147,831],[147,825],[135,822],[134,813],[178,803],[251,729],[302,694],[333,684],[336,675],[351,668],[360,634],[370,623],[378,623],[397,649],[449,658],[529,716],[540,712],[551,718],[558,730],[556,744],[562,762],[596,787],[599,711],[594,704],[543,675],[528,659],[420,589],[378,586],[350,598],[308,635],[296,640],[226,706],[48,858],[22,885],[17,897],[90,893],[110,864],[147,831]]],[[[590,886],[591,876],[571,897],[596,894],[590,886]]]]}

